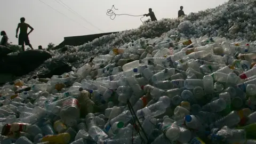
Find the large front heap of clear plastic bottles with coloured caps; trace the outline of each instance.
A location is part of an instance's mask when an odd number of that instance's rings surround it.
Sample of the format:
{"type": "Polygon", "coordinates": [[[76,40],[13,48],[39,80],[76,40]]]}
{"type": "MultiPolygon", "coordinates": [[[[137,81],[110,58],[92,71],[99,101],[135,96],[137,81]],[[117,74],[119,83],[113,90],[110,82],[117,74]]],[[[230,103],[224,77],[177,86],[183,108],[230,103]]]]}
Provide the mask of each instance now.
{"type": "Polygon", "coordinates": [[[140,38],[0,88],[1,143],[256,143],[256,43],[140,38]]]}

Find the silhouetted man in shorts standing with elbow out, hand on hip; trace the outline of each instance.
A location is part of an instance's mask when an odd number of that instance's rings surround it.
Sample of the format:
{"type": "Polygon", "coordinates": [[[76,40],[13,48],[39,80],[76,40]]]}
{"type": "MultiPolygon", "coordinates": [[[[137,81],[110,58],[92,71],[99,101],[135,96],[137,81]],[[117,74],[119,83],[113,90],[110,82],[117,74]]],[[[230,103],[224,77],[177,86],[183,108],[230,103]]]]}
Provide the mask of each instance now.
{"type": "Polygon", "coordinates": [[[25,18],[20,18],[20,23],[18,24],[18,27],[16,29],[16,38],[18,38],[19,29],[20,29],[19,45],[22,46],[22,50],[25,51],[24,43],[25,45],[28,45],[32,50],[34,50],[28,38],[28,35],[34,30],[34,28],[28,25],[28,23],[25,23],[25,18]],[[29,33],[28,33],[28,28],[30,28],[29,33]]]}

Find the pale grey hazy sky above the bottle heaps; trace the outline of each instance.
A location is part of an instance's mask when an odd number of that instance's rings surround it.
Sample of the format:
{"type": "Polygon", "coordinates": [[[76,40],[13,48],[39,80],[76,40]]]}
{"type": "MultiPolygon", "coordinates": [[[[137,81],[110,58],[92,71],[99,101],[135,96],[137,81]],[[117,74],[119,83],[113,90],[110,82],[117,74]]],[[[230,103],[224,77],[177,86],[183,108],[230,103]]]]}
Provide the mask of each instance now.
{"type": "MultiPolygon", "coordinates": [[[[111,20],[106,15],[107,9],[111,9],[114,4],[118,10],[115,13],[128,13],[140,15],[148,13],[151,7],[155,12],[156,18],[176,18],[179,7],[184,7],[185,14],[198,12],[207,8],[216,7],[228,0],[41,0],[52,6],[54,11],[39,0],[1,0],[0,5],[0,30],[5,30],[9,36],[9,42],[18,44],[15,38],[15,29],[21,17],[26,18],[35,30],[29,35],[31,44],[36,48],[38,45],[46,47],[50,42],[59,44],[66,36],[79,36],[107,32],[121,31],[126,29],[138,28],[142,22],[140,17],[117,16],[111,20]],[[58,3],[58,2],[59,3],[58,3]],[[76,14],[60,4],[60,1],[68,5],[76,14]],[[67,18],[68,17],[68,18],[67,18]],[[74,21],[70,20],[73,19],[74,21]],[[94,25],[91,26],[85,20],[94,25]],[[80,23],[80,24],[78,24],[80,23]],[[99,30],[100,29],[100,30],[99,30]]],[[[149,18],[149,17],[148,17],[149,18]]],[[[147,20],[143,18],[142,20],[147,20]]]]}

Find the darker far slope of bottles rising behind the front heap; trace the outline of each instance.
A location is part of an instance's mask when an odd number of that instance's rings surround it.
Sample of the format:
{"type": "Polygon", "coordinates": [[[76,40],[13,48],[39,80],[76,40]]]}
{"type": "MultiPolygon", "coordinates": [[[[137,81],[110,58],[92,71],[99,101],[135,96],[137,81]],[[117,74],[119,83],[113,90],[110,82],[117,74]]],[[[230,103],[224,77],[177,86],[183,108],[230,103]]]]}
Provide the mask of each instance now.
{"type": "MultiPolygon", "coordinates": [[[[174,40],[179,42],[181,37],[189,39],[190,37],[201,37],[207,34],[209,37],[246,38],[248,41],[255,41],[255,7],[254,0],[230,0],[214,9],[190,13],[184,18],[161,19],[141,25],[137,29],[102,36],[81,46],[70,46],[66,52],[62,52],[61,49],[54,50],[52,51],[54,57],[45,63],[54,60],[65,60],[78,68],[94,55],[107,54],[113,46],[122,46],[141,37],[164,38],[172,36],[174,40]],[[189,29],[178,27],[186,21],[190,21],[189,23],[193,26],[189,29]]],[[[186,7],[184,9],[186,12],[186,7]]],[[[37,72],[41,73],[42,67],[37,72]]]]}

